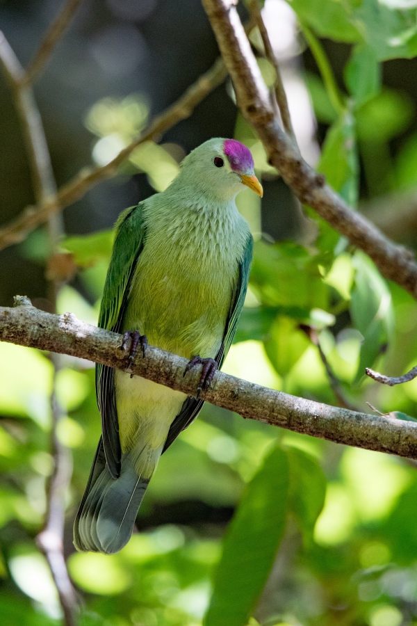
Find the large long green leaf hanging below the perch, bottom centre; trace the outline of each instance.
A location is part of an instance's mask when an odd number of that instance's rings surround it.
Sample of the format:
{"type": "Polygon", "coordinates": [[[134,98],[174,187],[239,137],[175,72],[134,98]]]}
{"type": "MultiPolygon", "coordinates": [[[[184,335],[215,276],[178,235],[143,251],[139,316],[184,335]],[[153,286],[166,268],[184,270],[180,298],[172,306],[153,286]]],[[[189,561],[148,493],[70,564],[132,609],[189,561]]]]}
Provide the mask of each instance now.
{"type": "Polygon", "coordinates": [[[204,626],[247,624],[284,533],[288,481],[286,452],[274,448],[229,525],[204,626]]]}

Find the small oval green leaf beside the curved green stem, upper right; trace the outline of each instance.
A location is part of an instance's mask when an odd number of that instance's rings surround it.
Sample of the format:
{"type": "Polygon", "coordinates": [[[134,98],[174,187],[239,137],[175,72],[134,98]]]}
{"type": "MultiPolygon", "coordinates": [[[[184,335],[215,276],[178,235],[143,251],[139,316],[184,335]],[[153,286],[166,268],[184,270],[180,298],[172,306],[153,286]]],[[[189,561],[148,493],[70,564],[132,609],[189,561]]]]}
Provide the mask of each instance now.
{"type": "Polygon", "coordinates": [[[375,96],[381,86],[381,71],[377,56],[367,45],[357,45],[345,66],[345,83],[359,106],[375,96]]]}

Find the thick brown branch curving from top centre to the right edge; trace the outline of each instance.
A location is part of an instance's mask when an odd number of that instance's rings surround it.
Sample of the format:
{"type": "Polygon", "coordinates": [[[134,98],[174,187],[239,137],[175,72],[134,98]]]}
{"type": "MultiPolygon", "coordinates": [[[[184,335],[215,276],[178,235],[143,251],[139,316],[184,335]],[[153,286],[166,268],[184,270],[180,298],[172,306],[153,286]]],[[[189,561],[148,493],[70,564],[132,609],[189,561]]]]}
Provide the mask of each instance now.
{"type": "Polygon", "coordinates": [[[302,159],[297,147],[279,126],[254,54],[233,0],[202,0],[234,83],[238,106],[256,129],[269,162],[304,204],[309,204],[354,246],[375,262],[379,271],[417,297],[417,264],[366,218],[355,213],[325,184],[325,179],[302,159]]]}

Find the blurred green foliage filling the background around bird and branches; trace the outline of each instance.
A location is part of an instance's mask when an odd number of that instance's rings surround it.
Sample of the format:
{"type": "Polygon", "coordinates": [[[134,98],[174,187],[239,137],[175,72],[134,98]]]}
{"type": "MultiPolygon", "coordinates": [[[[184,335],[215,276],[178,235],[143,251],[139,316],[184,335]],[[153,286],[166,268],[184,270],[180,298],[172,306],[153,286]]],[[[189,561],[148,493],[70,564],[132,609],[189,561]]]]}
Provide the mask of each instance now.
{"type": "MultiPolygon", "coordinates": [[[[140,90],[110,89],[114,83],[106,82],[85,105],[88,141],[98,165],[112,159],[150,120],[161,50],[164,58],[174,55],[177,66],[158,74],[158,81],[165,88],[175,77],[178,93],[186,84],[179,75],[179,59],[187,59],[181,65],[185,68],[206,51],[199,45],[195,58],[186,54],[192,29],[182,38],[175,31],[175,46],[170,48],[170,31],[163,35],[156,14],[165,19],[165,27],[172,20],[178,29],[174,20],[183,19],[181,28],[183,24],[186,28],[189,20],[181,10],[173,15],[165,3],[157,12],[156,0],[136,3],[137,8],[133,4],[108,0],[106,11],[111,17],[104,11],[100,19],[113,20],[118,28],[124,24],[115,40],[125,63],[129,59],[133,63],[133,53],[142,45],[136,35],[147,34],[152,80],[140,90]],[[159,30],[154,24],[159,24],[159,30]]],[[[318,170],[352,207],[361,207],[364,200],[381,193],[416,188],[417,93],[411,91],[415,65],[411,72],[412,61],[404,61],[417,51],[416,2],[288,0],[288,6],[300,26],[293,45],[298,49],[302,33],[309,43],[304,50],[305,70],[299,66],[297,73],[318,122],[322,150],[318,170]],[[393,67],[393,61],[387,60],[394,58],[401,86],[387,80],[393,67]]],[[[267,0],[265,8],[282,10],[281,0],[267,0]]],[[[193,10],[189,13],[194,19],[193,10]]],[[[27,19],[35,24],[33,14],[27,19]]],[[[98,24],[97,15],[92,22],[90,15],[88,28],[95,20],[98,24]]],[[[97,33],[92,38],[93,55],[108,49],[115,53],[105,32],[104,44],[97,33]]],[[[202,32],[208,33],[206,22],[197,35],[202,32]]],[[[254,41],[259,49],[256,33],[254,41]]],[[[106,77],[112,81],[124,71],[117,58],[106,56],[106,77]]],[[[261,60],[260,67],[271,85],[272,66],[261,60]]],[[[77,72],[72,80],[82,83],[81,69],[77,72]]],[[[197,111],[190,127],[181,125],[181,131],[163,143],[140,145],[122,168],[117,193],[131,177],[140,179],[140,194],[170,184],[183,154],[193,147],[188,145],[190,137],[197,145],[197,138],[202,141],[225,133],[218,122],[232,106],[230,95],[229,87],[222,90],[214,111],[208,106],[200,118],[197,111]]],[[[297,115],[295,108],[294,122],[300,122],[297,115]]],[[[365,255],[352,250],[309,207],[305,210],[313,223],[313,236],[303,239],[300,234],[297,241],[272,241],[269,233],[262,236],[263,211],[272,214],[279,230],[286,207],[279,213],[275,172],[258,138],[239,113],[231,118],[234,127],[229,134],[250,146],[256,169],[265,179],[267,208],[261,211],[255,195],[240,195],[239,207],[250,221],[256,244],[245,310],[224,370],[336,404],[318,347],[304,332],[307,326],[316,332],[347,402],[363,411],[370,410],[366,404],[370,403],[382,414],[397,412],[399,419],[416,417],[417,380],[388,388],[363,380],[362,374],[365,366],[400,374],[415,364],[417,303],[386,282],[365,255]]],[[[101,197],[106,221],[99,219],[101,204],[83,204],[85,219],[92,213],[98,226],[85,228],[79,214],[72,234],[61,243],[76,274],[60,291],[58,309],[91,323],[97,320],[111,255],[113,230],[108,225],[124,208],[116,204],[111,213],[112,193],[110,199],[104,198],[106,193],[101,197]]],[[[417,233],[409,236],[416,243],[417,233]]],[[[19,255],[23,265],[43,266],[49,255],[45,232],[28,236],[19,246],[19,255]]],[[[11,275],[10,280],[18,277],[11,275]]],[[[40,288],[35,297],[42,305],[40,288]]],[[[52,379],[46,355],[0,344],[0,616],[6,626],[60,623],[56,590],[34,541],[42,527],[45,487],[53,464],[52,379]]],[[[122,552],[76,554],[72,520],[100,431],[94,387],[92,364],[65,357],[56,380],[66,412],[58,437],[74,457],[65,554],[83,597],[81,625],[417,624],[416,467],[399,458],[243,421],[213,406],[206,406],[163,455],[138,515],[140,532],[122,552]]]]}

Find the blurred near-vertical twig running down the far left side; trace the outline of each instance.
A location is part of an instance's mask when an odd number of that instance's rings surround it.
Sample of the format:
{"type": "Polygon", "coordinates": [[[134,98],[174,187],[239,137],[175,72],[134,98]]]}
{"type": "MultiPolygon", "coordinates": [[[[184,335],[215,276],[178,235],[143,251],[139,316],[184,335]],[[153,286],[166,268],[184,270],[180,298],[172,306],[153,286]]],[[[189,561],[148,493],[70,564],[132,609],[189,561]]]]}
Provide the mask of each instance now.
{"type": "MultiPolygon", "coordinates": [[[[4,36],[0,38],[0,63],[15,97],[15,106],[22,126],[28,163],[31,168],[35,199],[40,203],[45,202],[56,193],[56,183],[42,120],[35,104],[30,83],[21,80],[23,68],[4,36]]],[[[58,239],[63,233],[62,216],[59,214],[49,216],[47,226],[51,250],[54,252],[58,245],[58,239]]],[[[48,299],[54,312],[58,287],[58,279],[50,278],[48,299]]],[[[56,398],[55,382],[60,369],[60,357],[51,353],[50,360],[54,366],[51,393],[51,449],[54,458],[54,470],[47,488],[47,514],[44,527],[38,534],[37,543],[49,564],[63,609],[65,624],[73,626],[77,600],[63,554],[65,493],[70,484],[72,460],[70,451],[59,441],[57,436],[58,424],[65,417],[56,398]]]]}

